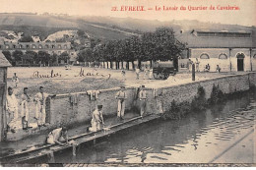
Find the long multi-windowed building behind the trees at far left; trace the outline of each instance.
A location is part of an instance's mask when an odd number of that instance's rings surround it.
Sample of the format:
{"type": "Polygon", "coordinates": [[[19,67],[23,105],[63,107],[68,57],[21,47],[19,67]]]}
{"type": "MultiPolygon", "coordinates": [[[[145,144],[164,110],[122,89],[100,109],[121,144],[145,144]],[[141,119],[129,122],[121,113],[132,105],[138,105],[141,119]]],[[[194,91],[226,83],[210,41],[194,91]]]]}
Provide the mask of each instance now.
{"type": "MultiPolygon", "coordinates": [[[[12,42],[4,41],[0,39],[0,51],[10,51],[11,53],[15,50],[20,50],[26,53],[26,51],[46,51],[49,54],[61,55],[63,52],[69,54],[70,60],[68,62],[75,62],[77,54],[71,47],[70,42],[12,42]]],[[[64,64],[67,61],[58,60],[57,63],[64,64]]],[[[26,64],[26,60],[23,60],[21,64],[26,64]]]]}

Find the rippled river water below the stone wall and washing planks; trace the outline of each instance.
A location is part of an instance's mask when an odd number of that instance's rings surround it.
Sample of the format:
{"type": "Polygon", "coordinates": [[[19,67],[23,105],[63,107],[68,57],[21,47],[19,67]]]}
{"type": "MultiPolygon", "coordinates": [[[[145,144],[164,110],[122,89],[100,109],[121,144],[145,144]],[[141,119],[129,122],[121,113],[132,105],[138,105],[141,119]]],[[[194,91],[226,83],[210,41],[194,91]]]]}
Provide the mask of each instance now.
{"type": "Polygon", "coordinates": [[[256,95],[243,93],[206,111],[191,112],[181,120],[154,121],[113,135],[103,142],[96,142],[95,145],[81,146],[77,150],[76,157],[72,156],[70,151],[58,153],[55,161],[61,163],[253,163],[255,142],[251,134],[255,114],[256,95]],[[240,140],[248,134],[245,140],[240,140]],[[239,142],[244,144],[235,148],[239,142]],[[246,153],[242,152],[244,150],[246,153]],[[226,157],[230,158],[230,155],[236,158],[226,159],[226,157]]]}

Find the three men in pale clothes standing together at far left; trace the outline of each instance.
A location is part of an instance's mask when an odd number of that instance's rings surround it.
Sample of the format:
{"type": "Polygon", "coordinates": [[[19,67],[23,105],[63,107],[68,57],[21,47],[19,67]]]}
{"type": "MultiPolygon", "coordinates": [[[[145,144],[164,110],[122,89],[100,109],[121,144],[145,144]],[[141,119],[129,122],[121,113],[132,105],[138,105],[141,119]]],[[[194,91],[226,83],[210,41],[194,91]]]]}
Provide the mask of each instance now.
{"type": "Polygon", "coordinates": [[[37,92],[33,98],[29,95],[29,87],[24,87],[23,94],[18,100],[14,94],[13,87],[9,86],[6,97],[7,132],[15,133],[19,124],[22,125],[24,130],[32,128],[30,127],[30,116],[32,113],[30,107],[32,101],[35,104],[35,114],[33,118],[36,120],[37,126],[46,126],[45,102],[48,96],[49,94],[44,92],[43,86],[39,87],[39,92],[37,92]]]}

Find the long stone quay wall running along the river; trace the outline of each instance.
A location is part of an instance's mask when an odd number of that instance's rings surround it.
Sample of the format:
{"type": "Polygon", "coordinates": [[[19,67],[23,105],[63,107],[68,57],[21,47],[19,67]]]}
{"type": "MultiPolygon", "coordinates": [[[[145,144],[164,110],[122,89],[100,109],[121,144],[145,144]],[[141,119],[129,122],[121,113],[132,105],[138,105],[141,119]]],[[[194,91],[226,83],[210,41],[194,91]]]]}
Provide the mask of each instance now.
{"type": "MultiPolygon", "coordinates": [[[[246,73],[242,75],[232,75],[223,78],[205,80],[188,83],[184,85],[166,85],[158,90],[146,88],[148,95],[148,113],[159,114],[170,109],[170,103],[174,99],[176,102],[189,101],[197,94],[198,86],[203,86],[206,91],[206,98],[210,98],[213,85],[219,85],[224,93],[248,90],[250,86],[256,86],[256,73],[246,73]]],[[[115,116],[117,114],[117,100],[115,94],[119,88],[99,90],[97,98],[91,98],[87,92],[71,94],[58,94],[50,99],[46,110],[47,120],[50,127],[61,124],[72,125],[83,123],[92,119],[92,113],[96,105],[103,105],[103,115],[115,116]],[[74,99],[76,95],[76,99],[74,99]],[[72,99],[73,96],[73,99],[72,99]]],[[[139,109],[140,102],[137,99],[138,88],[127,87],[127,100],[125,109],[139,109]]]]}

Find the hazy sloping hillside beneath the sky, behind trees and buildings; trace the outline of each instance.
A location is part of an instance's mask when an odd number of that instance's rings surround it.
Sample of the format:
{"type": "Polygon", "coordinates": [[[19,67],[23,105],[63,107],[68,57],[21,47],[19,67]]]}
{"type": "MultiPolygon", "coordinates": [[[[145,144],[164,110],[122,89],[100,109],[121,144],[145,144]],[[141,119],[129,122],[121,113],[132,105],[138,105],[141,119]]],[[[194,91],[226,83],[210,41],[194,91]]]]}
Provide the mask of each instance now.
{"type": "MultiPolygon", "coordinates": [[[[132,18],[111,18],[111,17],[57,17],[50,15],[35,14],[0,14],[0,29],[14,30],[26,34],[37,33],[41,40],[49,34],[60,30],[82,29],[90,37],[100,39],[123,39],[130,35],[136,35],[143,31],[153,31],[159,27],[171,27],[179,30],[246,30],[252,31],[252,27],[237,25],[223,25],[213,23],[202,23],[198,21],[171,21],[160,22],[150,20],[138,20],[132,18]]],[[[255,32],[255,27],[254,27],[255,32]]],[[[254,33],[255,34],[255,33],[254,33]]]]}

